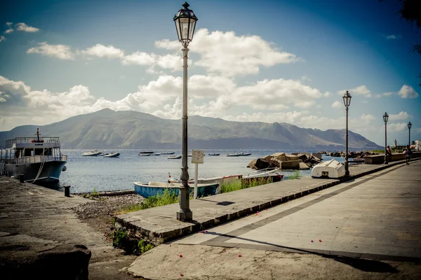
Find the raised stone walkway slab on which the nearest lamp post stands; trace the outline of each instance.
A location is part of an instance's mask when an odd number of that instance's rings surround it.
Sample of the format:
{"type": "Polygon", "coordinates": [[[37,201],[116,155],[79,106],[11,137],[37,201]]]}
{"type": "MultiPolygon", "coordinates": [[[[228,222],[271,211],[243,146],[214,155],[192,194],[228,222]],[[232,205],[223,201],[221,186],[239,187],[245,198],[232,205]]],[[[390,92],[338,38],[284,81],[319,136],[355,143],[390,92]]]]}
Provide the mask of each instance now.
{"type": "MultiPolygon", "coordinates": [[[[372,172],[399,165],[404,161],[391,162],[389,165],[356,165],[349,167],[351,179],[359,178],[372,172]]],[[[142,238],[158,245],[199,230],[233,221],[256,211],[274,207],[324,188],[338,185],[343,179],[286,180],[265,186],[237,190],[212,197],[190,200],[193,212],[191,223],[176,220],[178,204],[136,211],[116,216],[116,228],[125,228],[128,235],[142,238]]]]}

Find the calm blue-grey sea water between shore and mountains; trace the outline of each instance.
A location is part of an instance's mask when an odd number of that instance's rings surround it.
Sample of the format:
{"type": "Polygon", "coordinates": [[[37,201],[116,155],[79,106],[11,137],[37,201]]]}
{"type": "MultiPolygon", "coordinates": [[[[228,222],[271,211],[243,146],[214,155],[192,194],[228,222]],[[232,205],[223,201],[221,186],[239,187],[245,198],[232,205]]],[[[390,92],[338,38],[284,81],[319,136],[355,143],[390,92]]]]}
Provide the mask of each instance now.
{"type": "MultiPolygon", "coordinates": [[[[60,176],[60,186],[70,185],[72,193],[91,192],[105,190],[131,190],[133,182],[167,181],[168,172],[175,179],[180,178],[181,159],[168,160],[168,155],[150,155],[149,157],[138,156],[140,150],[103,150],[103,153],[118,152],[119,158],[83,157],[86,150],[62,150],[68,155],[67,171],[60,176]]],[[[163,151],[155,153],[175,152],[180,155],[180,150],[163,151]]],[[[255,158],[262,158],[279,151],[245,151],[252,153],[246,157],[227,157],[227,153],[239,153],[231,150],[205,150],[203,165],[199,165],[199,178],[212,178],[216,176],[228,176],[242,174],[247,175],[253,169],[247,168],[248,163],[255,158]],[[208,156],[208,153],[220,153],[219,156],[208,156]]],[[[295,151],[283,151],[293,153],[295,151]]],[[[312,151],[310,151],[312,152],[312,151]]],[[[316,151],[313,151],[316,152],[316,151]]],[[[329,156],[323,160],[329,160],[329,156]]],[[[344,158],[335,158],[344,161],[344,158]]],[[[194,165],[191,158],[189,162],[189,176],[194,178],[194,165]]],[[[311,171],[301,171],[302,176],[310,176],[311,171]]],[[[293,172],[283,171],[288,177],[293,172]]],[[[285,177],[285,178],[286,178],[285,177]]]]}

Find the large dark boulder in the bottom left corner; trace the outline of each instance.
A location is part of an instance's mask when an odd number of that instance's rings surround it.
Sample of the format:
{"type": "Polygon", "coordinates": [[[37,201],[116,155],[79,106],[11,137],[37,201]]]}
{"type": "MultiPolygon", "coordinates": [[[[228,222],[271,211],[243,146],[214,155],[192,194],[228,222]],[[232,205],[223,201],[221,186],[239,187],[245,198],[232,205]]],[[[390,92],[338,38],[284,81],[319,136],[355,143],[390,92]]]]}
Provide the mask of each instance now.
{"type": "Polygon", "coordinates": [[[1,279],[88,280],[91,251],[86,246],[1,233],[1,279]]]}

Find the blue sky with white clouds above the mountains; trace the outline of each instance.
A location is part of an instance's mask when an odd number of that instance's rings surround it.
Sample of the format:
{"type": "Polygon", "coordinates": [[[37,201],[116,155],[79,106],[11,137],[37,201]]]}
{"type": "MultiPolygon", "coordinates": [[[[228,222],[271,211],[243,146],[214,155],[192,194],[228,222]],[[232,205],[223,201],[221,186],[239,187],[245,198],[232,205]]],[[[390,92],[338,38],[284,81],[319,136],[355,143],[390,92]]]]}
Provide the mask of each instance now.
{"type": "MultiPolygon", "coordinates": [[[[3,1],[0,131],[109,108],[182,113],[183,1],[3,1]]],[[[420,31],[398,0],[191,0],[188,114],[421,139],[420,31]]]]}

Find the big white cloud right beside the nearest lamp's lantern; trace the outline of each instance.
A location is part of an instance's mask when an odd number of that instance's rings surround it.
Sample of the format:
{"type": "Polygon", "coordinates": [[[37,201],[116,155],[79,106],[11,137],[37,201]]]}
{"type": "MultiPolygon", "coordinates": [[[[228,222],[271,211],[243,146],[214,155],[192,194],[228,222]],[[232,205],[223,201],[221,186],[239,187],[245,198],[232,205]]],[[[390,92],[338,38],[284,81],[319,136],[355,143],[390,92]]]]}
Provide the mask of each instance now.
{"type": "MultiPolygon", "coordinates": [[[[178,41],[156,41],[156,47],[180,50],[178,41]]],[[[190,52],[197,52],[200,59],[196,65],[208,73],[222,76],[244,76],[259,73],[260,67],[297,62],[296,55],[276,50],[272,43],[260,36],[236,36],[234,31],[199,29],[189,45],[190,52]]]]}

